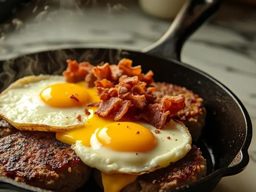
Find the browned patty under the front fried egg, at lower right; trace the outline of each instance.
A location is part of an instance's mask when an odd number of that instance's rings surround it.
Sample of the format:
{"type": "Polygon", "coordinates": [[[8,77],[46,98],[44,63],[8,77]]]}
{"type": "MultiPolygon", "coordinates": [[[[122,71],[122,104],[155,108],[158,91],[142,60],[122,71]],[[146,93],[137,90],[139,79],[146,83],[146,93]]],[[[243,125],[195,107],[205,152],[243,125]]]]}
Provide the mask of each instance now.
{"type": "MultiPolygon", "coordinates": [[[[205,175],[206,160],[200,149],[192,145],[191,150],[183,159],[164,169],[138,176],[136,181],[123,188],[121,192],[163,192],[194,183],[205,175]]],[[[94,178],[103,188],[99,170],[94,170],[94,178]]]]}

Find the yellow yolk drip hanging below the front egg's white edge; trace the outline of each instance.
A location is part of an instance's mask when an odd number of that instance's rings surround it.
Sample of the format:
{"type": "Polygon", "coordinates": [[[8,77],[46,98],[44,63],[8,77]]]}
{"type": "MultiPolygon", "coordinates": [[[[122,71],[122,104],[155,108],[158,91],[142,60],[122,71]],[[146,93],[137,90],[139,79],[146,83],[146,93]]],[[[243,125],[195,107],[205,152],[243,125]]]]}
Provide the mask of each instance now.
{"type": "Polygon", "coordinates": [[[102,184],[104,192],[120,192],[128,184],[133,183],[137,179],[138,175],[128,174],[112,174],[107,175],[101,172],[102,184]]]}

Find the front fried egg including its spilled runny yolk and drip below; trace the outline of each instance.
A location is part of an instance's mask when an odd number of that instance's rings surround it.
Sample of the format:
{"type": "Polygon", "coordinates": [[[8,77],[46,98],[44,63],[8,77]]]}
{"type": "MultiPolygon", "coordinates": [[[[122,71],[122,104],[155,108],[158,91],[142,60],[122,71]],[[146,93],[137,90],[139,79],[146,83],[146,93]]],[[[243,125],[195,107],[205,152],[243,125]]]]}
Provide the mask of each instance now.
{"type": "Polygon", "coordinates": [[[83,128],[61,131],[56,138],[72,145],[84,164],[101,171],[105,192],[120,192],[139,175],[167,167],[191,148],[191,135],[181,122],[171,120],[161,130],[144,121],[98,117],[97,108],[83,128]]]}

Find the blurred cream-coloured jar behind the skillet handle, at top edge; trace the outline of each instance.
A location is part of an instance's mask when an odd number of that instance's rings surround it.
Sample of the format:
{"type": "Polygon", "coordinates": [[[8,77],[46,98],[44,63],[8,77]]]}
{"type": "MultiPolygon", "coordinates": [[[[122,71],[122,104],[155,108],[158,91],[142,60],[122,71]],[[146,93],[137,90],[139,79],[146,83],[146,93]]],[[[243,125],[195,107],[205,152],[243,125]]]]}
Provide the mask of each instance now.
{"type": "Polygon", "coordinates": [[[186,0],[139,0],[140,7],[151,16],[174,19],[186,0]]]}

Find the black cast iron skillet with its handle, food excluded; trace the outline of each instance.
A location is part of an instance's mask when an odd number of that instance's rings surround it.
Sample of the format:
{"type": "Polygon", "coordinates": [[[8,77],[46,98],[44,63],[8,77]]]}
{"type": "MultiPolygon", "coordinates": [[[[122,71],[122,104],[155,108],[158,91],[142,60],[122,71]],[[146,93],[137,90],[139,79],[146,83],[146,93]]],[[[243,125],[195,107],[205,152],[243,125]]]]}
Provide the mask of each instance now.
{"type": "MultiPolygon", "coordinates": [[[[74,48],[44,51],[1,61],[0,91],[23,76],[61,74],[66,69],[66,59],[98,64],[101,61],[117,63],[121,58],[130,58],[134,64],[142,65],[144,72],[153,70],[156,81],[187,87],[204,99],[207,109],[206,125],[196,145],[201,148],[204,158],[207,159],[207,176],[175,191],[212,191],[222,177],[244,170],[249,162],[248,147],[252,137],[250,117],[236,95],[208,74],[180,62],[184,41],[218,8],[217,0],[190,0],[178,14],[169,31],[154,45],[143,50],[143,53],[103,48],[74,48]]],[[[90,186],[83,187],[81,191],[99,190],[92,186],[92,182],[89,181],[90,186]]],[[[0,187],[5,188],[4,191],[24,190],[6,182],[0,187]]]]}

